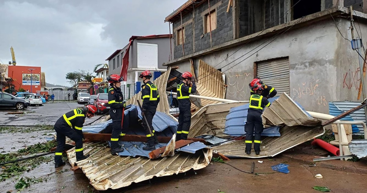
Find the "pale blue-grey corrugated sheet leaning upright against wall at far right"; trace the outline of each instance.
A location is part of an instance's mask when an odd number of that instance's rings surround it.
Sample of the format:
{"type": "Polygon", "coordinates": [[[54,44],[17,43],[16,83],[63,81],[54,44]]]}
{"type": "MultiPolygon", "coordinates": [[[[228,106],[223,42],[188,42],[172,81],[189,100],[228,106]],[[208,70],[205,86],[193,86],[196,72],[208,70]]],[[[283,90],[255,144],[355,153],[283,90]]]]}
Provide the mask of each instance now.
{"type": "MultiPolygon", "coordinates": [[[[353,102],[353,101],[333,101],[331,102],[333,103],[335,106],[337,106],[340,110],[342,111],[349,111],[350,109],[360,106],[361,102],[353,102]]],[[[352,114],[350,114],[350,117],[352,117],[352,119],[354,121],[363,121],[366,123],[366,117],[364,115],[364,108],[353,112],[352,114]]],[[[355,133],[355,135],[363,135],[363,127],[362,125],[357,125],[359,132],[355,133]]]]}

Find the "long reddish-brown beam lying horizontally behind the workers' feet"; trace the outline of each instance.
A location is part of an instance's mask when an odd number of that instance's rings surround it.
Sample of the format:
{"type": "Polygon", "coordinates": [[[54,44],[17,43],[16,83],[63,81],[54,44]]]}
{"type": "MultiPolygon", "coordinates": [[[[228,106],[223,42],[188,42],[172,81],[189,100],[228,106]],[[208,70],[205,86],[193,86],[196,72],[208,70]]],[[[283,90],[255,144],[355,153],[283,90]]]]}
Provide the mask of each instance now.
{"type": "MultiPolygon", "coordinates": [[[[90,141],[109,141],[111,140],[111,134],[110,133],[83,133],[84,137],[86,139],[89,139],[90,141]]],[[[160,137],[157,136],[158,141],[160,143],[168,143],[172,137],[160,137]]],[[[192,140],[194,142],[202,142],[204,144],[208,144],[204,139],[200,138],[188,138],[188,140],[192,140]]],[[[144,135],[125,135],[120,136],[119,141],[124,142],[147,142],[146,136],[144,135]]]]}

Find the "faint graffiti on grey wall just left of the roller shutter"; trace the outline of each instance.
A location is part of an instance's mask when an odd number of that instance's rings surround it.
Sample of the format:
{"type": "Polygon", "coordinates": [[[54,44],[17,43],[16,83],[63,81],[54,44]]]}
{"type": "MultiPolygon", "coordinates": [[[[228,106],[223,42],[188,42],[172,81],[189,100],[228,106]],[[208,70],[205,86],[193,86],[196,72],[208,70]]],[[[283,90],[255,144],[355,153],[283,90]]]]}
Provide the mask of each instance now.
{"type": "Polygon", "coordinates": [[[228,96],[234,97],[236,100],[244,100],[246,92],[250,92],[248,83],[244,82],[246,77],[252,77],[250,73],[243,72],[241,69],[228,70],[228,96]]]}

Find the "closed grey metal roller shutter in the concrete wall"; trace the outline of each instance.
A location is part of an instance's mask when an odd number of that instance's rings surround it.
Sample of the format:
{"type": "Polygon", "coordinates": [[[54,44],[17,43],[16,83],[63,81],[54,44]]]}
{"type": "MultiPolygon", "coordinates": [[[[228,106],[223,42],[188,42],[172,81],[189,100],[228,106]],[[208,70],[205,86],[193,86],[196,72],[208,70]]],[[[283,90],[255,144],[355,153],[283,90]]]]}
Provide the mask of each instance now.
{"type": "Polygon", "coordinates": [[[290,94],[288,57],[257,62],[257,76],[266,85],[276,89],[276,96],[283,92],[290,94]]]}

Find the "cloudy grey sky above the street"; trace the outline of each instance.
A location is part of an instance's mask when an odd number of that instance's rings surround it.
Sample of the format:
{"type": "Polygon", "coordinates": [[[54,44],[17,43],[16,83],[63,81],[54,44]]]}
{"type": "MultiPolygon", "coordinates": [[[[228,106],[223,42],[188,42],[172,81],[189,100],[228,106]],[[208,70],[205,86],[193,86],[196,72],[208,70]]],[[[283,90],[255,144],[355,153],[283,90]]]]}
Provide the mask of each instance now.
{"type": "Polygon", "coordinates": [[[169,33],[164,18],[187,0],[0,0],[0,63],[40,66],[46,82],[92,71],[132,35],[169,33]]]}

